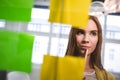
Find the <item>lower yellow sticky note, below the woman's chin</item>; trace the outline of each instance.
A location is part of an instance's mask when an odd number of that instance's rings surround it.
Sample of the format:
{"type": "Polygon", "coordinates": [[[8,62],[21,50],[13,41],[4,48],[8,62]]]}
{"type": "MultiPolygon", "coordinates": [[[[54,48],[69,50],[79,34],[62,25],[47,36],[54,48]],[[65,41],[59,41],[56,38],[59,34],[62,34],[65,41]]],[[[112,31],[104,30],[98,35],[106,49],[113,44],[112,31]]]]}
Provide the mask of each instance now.
{"type": "Polygon", "coordinates": [[[85,58],[44,56],[40,80],[83,80],[85,58]]]}

